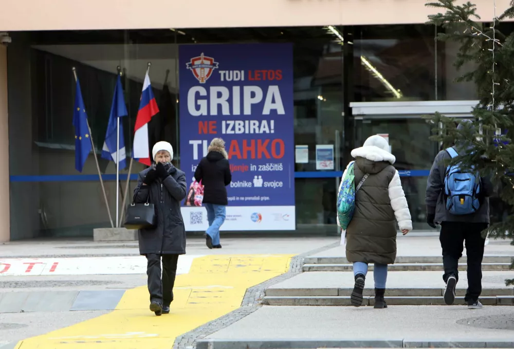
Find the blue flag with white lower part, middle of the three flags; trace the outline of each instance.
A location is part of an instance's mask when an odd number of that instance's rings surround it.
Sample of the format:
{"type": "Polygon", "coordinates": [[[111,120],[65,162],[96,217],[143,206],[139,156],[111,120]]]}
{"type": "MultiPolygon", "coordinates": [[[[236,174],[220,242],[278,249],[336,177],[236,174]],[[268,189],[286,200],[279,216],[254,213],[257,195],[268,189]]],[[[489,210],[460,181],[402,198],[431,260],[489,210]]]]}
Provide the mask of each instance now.
{"type": "MultiPolygon", "coordinates": [[[[114,88],[113,105],[111,106],[111,115],[109,115],[109,123],[107,124],[107,132],[105,134],[105,142],[102,148],[102,158],[106,160],[113,160],[116,163],[117,159],[117,145],[118,145],[118,118],[127,116],[127,108],[125,105],[125,98],[123,97],[123,87],[121,87],[121,78],[118,74],[116,87],[114,88]]],[[[123,136],[123,124],[120,120],[120,170],[126,167],[126,153],[125,153],[125,139],[123,136]]]]}

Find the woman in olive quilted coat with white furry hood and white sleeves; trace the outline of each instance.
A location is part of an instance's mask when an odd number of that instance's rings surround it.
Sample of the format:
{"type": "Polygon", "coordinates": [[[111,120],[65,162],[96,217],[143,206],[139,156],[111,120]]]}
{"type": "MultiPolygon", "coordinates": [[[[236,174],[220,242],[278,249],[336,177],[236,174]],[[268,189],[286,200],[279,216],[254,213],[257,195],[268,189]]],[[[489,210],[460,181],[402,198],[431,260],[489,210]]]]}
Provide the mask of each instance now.
{"type": "Polygon", "coordinates": [[[393,167],[396,158],[389,152],[386,139],[371,136],[361,148],[352,151],[352,157],[355,158],[355,211],[346,229],[346,259],[353,262],[355,277],[351,302],[354,306],[362,305],[368,264],[374,263],[375,308],[387,308],[384,301],[387,269],[396,259],[395,218],[405,235],[412,230],[411,214],[398,171],[393,167]]]}

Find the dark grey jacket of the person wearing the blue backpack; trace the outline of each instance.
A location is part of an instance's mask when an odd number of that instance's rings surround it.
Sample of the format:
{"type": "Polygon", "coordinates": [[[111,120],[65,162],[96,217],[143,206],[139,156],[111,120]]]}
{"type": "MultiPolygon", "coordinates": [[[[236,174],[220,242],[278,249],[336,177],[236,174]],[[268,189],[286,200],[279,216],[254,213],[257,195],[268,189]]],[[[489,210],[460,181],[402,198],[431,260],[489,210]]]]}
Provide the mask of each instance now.
{"type": "MultiPolygon", "coordinates": [[[[453,146],[455,151],[458,150],[453,146]]],[[[482,197],[480,197],[480,208],[473,214],[453,215],[446,209],[444,203],[444,182],[448,162],[451,156],[446,150],[442,150],[435,157],[430,175],[427,179],[427,193],[425,195],[425,203],[427,204],[427,213],[435,214],[435,222],[468,222],[468,223],[489,223],[489,196],[493,194],[491,181],[487,178],[481,178],[482,197]]]]}

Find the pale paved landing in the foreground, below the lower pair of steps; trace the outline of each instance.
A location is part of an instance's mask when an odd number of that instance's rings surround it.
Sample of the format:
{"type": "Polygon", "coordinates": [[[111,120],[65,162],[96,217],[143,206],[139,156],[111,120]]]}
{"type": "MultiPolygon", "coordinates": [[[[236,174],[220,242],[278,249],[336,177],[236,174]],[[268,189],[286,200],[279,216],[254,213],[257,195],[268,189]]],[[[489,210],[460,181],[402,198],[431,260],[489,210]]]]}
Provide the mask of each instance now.
{"type": "Polygon", "coordinates": [[[328,345],[329,341],[339,341],[340,347],[360,347],[370,340],[380,341],[377,345],[382,346],[378,347],[396,346],[398,341],[464,341],[474,342],[475,347],[500,341],[513,347],[514,313],[510,307],[492,306],[480,310],[463,306],[264,306],[208,336],[198,348],[204,348],[209,340],[215,340],[214,349],[265,347],[266,342],[273,342],[268,346],[273,348],[305,348],[311,347],[308,342],[313,340],[319,345],[314,347],[328,345]],[[395,341],[395,345],[387,343],[395,341]],[[297,346],[290,346],[293,342],[297,346]]]}

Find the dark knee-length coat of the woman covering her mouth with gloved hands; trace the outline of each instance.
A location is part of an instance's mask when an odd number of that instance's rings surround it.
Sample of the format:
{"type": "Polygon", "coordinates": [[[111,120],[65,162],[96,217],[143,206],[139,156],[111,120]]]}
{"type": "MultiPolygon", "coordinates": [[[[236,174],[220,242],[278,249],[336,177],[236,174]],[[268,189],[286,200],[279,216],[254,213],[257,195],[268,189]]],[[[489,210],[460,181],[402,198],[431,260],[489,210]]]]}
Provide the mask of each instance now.
{"type": "Polygon", "coordinates": [[[157,178],[144,186],[143,178],[148,171],[150,168],[139,173],[134,200],[142,204],[149,199],[149,203],[155,205],[157,227],[139,230],[139,253],[185,254],[186,227],[180,201],[186,197],[186,174],[172,166],[164,180],[157,178]]]}

